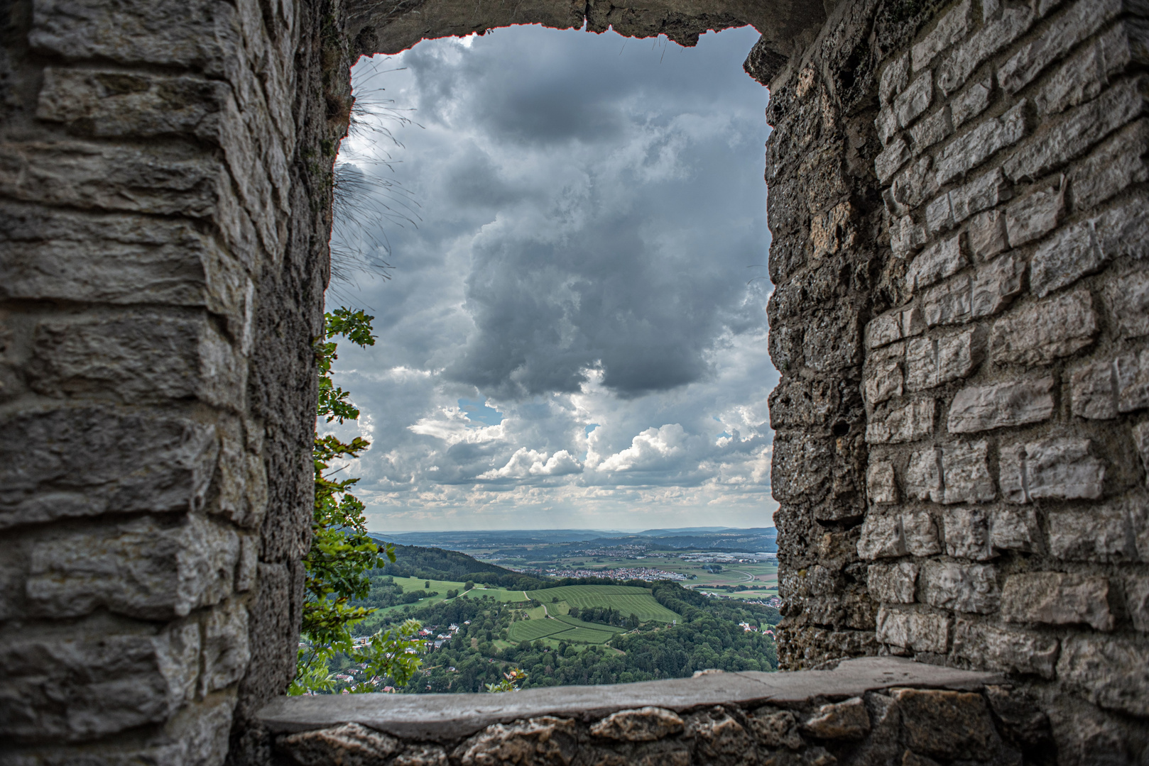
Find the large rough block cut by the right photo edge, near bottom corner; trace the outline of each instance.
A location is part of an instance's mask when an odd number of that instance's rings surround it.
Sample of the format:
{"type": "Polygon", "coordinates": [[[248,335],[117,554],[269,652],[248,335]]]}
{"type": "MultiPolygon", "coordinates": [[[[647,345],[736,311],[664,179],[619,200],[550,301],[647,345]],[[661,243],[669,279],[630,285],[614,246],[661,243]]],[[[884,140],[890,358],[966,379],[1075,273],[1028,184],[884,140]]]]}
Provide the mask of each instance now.
{"type": "Polygon", "coordinates": [[[1089,702],[1149,715],[1149,645],[1127,637],[1073,635],[1062,642],[1057,678],[1089,702]]]}

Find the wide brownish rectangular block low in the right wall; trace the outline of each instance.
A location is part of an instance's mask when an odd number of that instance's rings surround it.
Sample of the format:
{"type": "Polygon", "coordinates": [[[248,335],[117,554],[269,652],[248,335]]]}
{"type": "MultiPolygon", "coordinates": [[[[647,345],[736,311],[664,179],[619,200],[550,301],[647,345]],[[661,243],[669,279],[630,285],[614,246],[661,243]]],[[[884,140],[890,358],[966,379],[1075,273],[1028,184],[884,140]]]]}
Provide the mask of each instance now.
{"type": "Polygon", "coordinates": [[[1084,624],[1095,630],[1113,629],[1109,580],[1103,577],[1062,572],[1012,574],[1005,578],[1001,599],[1007,622],[1084,624]]]}

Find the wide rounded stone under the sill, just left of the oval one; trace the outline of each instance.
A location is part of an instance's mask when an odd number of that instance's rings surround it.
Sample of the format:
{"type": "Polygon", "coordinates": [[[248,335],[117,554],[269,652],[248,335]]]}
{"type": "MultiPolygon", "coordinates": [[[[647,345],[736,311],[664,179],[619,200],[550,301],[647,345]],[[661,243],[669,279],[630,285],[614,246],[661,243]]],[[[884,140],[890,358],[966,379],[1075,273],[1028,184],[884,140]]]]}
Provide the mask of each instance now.
{"type": "Polygon", "coordinates": [[[577,729],[569,719],[542,715],[516,724],[494,724],[455,749],[452,759],[477,764],[546,764],[570,766],[578,750],[577,729]]]}

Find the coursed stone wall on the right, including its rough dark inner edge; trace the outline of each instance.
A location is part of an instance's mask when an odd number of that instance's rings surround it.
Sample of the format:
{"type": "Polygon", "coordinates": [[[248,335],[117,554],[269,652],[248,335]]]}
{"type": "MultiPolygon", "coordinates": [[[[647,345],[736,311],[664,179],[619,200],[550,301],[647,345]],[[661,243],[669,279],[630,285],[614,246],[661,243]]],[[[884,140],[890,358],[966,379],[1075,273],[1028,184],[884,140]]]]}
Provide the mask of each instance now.
{"type": "Polygon", "coordinates": [[[1062,763],[1147,744],[1147,10],[846,3],[771,92],[784,661],[1009,672],[1062,763]]]}

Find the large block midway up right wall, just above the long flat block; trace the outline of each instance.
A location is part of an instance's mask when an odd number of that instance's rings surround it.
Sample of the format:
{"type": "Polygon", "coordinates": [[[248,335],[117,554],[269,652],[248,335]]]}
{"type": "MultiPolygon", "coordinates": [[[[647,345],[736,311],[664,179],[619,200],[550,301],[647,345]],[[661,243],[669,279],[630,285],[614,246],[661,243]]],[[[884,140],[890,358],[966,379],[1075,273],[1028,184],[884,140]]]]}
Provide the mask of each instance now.
{"type": "Polygon", "coordinates": [[[1093,345],[1100,332],[1088,291],[1031,303],[994,323],[990,356],[997,364],[1035,366],[1093,345]]]}

